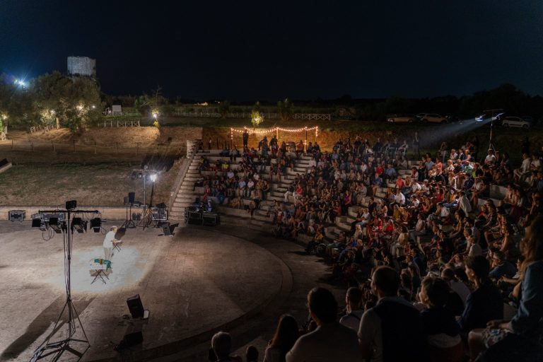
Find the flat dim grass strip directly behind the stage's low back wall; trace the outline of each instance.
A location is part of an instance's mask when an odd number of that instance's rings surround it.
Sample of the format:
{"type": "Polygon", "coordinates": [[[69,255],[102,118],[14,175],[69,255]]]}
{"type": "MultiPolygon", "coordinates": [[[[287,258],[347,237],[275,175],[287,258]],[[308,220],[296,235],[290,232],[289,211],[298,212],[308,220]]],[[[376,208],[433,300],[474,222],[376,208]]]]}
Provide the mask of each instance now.
{"type": "MultiPolygon", "coordinates": [[[[168,203],[180,164],[159,175],[153,204],[168,203]]],[[[133,168],[129,163],[13,165],[0,174],[0,199],[4,206],[62,206],[70,199],[86,206],[122,206],[128,192],[136,192],[136,200],[143,202],[144,182],[132,180],[133,168]]],[[[149,202],[151,182],[146,193],[149,202]]]]}

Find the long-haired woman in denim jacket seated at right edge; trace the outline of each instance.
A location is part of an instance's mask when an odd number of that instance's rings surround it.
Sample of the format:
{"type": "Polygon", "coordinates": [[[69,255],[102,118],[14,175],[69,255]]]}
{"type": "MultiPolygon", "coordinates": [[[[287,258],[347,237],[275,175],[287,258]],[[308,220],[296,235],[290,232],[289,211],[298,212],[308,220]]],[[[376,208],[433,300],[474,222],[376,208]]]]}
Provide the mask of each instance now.
{"type": "Polygon", "coordinates": [[[481,361],[543,360],[543,214],[526,229],[520,243],[520,305],[510,321],[491,320],[486,329],[469,333],[469,349],[481,361]]]}

